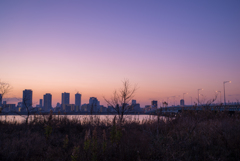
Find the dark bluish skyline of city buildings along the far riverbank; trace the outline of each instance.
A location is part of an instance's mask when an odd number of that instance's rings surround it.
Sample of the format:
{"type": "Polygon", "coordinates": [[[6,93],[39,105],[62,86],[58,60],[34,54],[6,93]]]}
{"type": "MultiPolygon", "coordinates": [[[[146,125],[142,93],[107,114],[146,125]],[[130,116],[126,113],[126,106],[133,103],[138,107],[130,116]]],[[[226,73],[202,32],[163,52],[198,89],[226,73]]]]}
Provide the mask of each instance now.
{"type": "MultiPolygon", "coordinates": [[[[22,102],[15,104],[7,104],[6,101],[2,103],[2,95],[0,94],[0,108],[4,109],[3,112],[17,111],[17,112],[49,112],[53,110],[55,112],[86,112],[86,113],[104,113],[114,112],[115,107],[104,107],[100,105],[100,101],[96,97],[90,97],[88,104],[81,104],[80,93],[75,94],[75,104],[70,103],[70,93],[64,92],[61,94],[61,103],[57,103],[56,107],[52,106],[52,94],[46,93],[43,98],[39,100],[39,104],[33,107],[33,91],[31,89],[23,90],[22,102]]],[[[136,100],[132,100],[132,104],[128,105],[130,111],[141,111],[140,104],[136,100]]],[[[152,105],[157,106],[157,102],[152,102],[152,105]]],[[[120,105],[121,106],[121,105],[120,105]]]]}

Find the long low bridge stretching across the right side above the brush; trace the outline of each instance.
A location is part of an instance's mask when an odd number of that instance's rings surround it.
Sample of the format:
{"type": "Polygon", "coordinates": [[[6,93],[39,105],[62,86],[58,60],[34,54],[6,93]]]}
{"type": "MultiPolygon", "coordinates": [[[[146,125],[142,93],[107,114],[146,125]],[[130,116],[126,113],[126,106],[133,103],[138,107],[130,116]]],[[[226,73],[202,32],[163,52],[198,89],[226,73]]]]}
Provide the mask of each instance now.
{"type": "Polygon", "coordinates": [[[211,105],[211,106],[171,106],[171,107],[160,107],[158,109],[146,111],[145,114],[177,114],[182,111],[187,110],[195,110],[195,111],[203,111],[203,110],[212,110],[212,111],[240,111],[240,104],[239,105],[211,105]]]}

